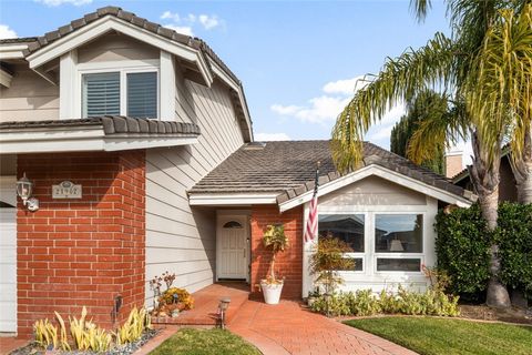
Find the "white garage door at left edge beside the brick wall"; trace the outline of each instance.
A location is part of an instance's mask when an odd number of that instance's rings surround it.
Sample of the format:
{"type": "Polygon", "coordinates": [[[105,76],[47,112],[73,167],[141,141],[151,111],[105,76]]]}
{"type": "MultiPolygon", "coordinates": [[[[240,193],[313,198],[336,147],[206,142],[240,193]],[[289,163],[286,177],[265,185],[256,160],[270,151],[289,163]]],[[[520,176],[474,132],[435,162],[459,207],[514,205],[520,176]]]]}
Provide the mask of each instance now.
{"type": "Polygon", "coordinates": [[[0,176],[0,333],[17,332],[17,195],[14,176],[0,176]]]}

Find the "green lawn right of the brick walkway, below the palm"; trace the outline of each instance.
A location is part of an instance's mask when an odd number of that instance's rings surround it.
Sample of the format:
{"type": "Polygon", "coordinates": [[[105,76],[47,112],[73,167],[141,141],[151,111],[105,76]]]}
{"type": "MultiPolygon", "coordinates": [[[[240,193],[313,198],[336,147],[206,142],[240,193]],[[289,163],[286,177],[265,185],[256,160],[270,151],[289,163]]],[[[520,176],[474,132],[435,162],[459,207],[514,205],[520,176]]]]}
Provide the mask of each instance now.
{"type": "Polygon", "coordinates": [[[352,320],[347,325],[420,354],[532,354],[532,327],[434,317],[352,320]]]}

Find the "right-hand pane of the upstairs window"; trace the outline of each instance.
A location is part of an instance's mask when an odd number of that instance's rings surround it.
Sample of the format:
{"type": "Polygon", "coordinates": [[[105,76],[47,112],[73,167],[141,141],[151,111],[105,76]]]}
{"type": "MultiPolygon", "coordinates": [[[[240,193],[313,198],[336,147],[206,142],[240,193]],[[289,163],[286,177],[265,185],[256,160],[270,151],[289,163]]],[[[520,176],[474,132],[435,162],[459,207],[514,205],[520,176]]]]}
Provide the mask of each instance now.
{"type": "Polygon", "coordinates": [[[157,118],[157,73],[127,73],[127,115],[157,118]]]}

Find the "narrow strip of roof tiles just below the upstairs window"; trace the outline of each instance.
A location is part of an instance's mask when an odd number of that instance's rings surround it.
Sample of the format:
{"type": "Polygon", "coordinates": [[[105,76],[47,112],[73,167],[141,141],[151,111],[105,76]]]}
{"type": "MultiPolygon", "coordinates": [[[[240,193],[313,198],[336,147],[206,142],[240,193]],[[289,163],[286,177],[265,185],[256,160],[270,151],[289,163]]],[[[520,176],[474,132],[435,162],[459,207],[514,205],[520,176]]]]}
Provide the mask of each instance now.
{"type": "Polygon", "coordinates": [[[8,131],[34,131],[73,126],[101,126],[105,135],[139,133],[152,135],[185,134],[200,135],[200,126],[194,123],[168,122],[150,119],[134,119],[121,115],[104,115],[84,120],[9,121],[0,123],[0,133],[8,131]]]}

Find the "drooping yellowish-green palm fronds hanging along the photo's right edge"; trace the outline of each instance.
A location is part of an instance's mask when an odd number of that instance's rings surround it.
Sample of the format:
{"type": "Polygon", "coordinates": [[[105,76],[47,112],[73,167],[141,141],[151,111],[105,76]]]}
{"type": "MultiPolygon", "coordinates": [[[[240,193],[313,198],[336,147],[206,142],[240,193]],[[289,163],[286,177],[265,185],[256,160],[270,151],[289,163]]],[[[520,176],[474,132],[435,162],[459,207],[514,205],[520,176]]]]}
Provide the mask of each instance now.
{"type": "Polygon", "coordinates": [[[532,4],[500,11],[471,68],[466,91],[482,143],[491,148],[497,134],[508,133],[519,160],[532,123],[532,4]]]}

